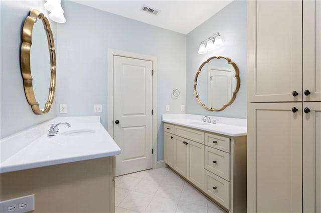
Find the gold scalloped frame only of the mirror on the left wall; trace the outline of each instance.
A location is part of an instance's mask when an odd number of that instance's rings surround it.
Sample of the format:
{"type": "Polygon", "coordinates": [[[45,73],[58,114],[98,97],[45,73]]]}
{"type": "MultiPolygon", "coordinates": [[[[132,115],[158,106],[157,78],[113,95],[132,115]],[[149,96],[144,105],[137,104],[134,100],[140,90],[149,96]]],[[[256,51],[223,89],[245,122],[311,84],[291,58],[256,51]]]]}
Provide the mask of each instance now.
{"type": "Polygon", "coordinates": [[[54,44],[54,36],[51,31],[50,23],[47,17],[37,9],[33,9],[30,11],[30,14],[26,17],[23,30],[22,30],[22,44],[21,44],[21,72],[24,79],[24,88],[27,97],[28,103],[31,105],[32,110],[35,114],[44,114],[47,113],[51,105],[54,101],[55,96],[55,87],[56,87],[56,52],[55,52],[55,44],[54,44]],[[50,55],[50,87],[49,87],[49,95],[48,101],[45,103],[45,108],[40,108],[39,103],[36,100],[34,88],[32,86],[32,75],[30,68],[30,52],[31,52],[31,44],[32,44],[32,30],[34,27],[34,23],[41,19],[44,25],[44,29],[46,30],[47,39],[48,39],[48,47],[49,47],[49,55],[50,55]]]}

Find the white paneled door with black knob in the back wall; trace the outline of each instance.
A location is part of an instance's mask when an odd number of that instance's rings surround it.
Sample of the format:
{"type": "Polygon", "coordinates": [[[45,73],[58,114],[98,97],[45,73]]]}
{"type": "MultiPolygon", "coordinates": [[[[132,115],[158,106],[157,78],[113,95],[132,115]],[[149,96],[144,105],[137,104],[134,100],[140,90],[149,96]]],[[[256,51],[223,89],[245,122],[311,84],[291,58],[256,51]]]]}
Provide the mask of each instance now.
{"type": "Polygon", "coordinates": [[[113,138],[116,175],[152,168],[152,61],[116,56],[113,138]]]}

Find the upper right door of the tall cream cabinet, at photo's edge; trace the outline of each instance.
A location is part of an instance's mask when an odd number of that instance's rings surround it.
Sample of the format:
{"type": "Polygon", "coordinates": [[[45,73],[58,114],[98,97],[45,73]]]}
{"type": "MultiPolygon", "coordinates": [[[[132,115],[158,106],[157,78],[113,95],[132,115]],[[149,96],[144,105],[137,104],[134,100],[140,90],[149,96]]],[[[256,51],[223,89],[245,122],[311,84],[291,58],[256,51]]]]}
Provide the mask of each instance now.
{"type": "Polygon", "coordinates": [[[303,0],[304,101],[321,101],[321,1],[303,0]]]}

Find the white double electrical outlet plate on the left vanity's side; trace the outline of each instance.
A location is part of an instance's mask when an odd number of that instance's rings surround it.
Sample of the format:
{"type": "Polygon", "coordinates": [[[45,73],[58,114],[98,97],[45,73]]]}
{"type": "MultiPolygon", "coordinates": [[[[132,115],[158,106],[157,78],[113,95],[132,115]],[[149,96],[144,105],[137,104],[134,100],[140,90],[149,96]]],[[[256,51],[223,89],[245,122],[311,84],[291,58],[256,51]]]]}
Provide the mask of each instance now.
{"type": "Polygon", "coordinates": [[[0,202],[1,213],[24,213],[32,210],[35,210],[35,194],[0,202]]]}

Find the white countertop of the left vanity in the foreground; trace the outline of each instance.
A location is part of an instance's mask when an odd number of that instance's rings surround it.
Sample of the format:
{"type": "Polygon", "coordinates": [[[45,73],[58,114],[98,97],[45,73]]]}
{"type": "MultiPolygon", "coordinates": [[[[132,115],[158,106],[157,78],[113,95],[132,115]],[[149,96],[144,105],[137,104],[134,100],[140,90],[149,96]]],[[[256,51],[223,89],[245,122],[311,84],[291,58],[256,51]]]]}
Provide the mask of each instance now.
{"type": "Polygon", "coordinates": [[[56,117],[1,140],[1,173],[120,154],[120,148],[100,123],[99,116],[56,117]],[[50,123],[59,133],[47,136],[50,123]],[[90,131],[77,132],[79,129],[90,131]],[[76,132],[75,132],[76,131],[76,132]],[[71,132],[70,134],[65,134],[71,132]]]}

